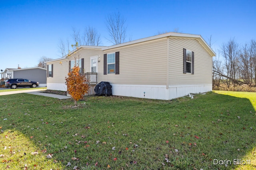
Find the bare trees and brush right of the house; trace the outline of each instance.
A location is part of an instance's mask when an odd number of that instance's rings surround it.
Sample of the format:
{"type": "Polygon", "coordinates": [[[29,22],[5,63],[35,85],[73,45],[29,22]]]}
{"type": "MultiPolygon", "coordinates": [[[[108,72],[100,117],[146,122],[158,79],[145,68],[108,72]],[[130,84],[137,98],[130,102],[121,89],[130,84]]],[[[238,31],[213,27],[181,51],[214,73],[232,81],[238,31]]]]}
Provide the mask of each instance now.
{"type": "Polygon", "coordinates": [[[223,43],[213,60],[213,87],[256,84],[256,40],[240,46],[234,38],[223,43]]]}

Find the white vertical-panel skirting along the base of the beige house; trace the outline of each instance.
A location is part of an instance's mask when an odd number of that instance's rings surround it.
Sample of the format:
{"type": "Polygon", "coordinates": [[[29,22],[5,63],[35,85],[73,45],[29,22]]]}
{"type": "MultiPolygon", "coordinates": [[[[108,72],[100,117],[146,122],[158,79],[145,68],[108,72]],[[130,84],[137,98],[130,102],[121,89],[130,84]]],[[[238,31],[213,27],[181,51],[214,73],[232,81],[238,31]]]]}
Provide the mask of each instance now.
{"type": "MultiPolygon", "coordinates": [[[[148,98],[160,100],[171,100],[174,98],[188,96],[189,93],[204,93],[212,91],[212,84],[169,86],[168,89],[166,89],[166,86],[164,85],[111,85],[112,94],[116,96],[128,96],[135,98],[148,98]]],[[[64,83],[47,83],[47,89],[67,91],[67,86],[64,83]]]]}

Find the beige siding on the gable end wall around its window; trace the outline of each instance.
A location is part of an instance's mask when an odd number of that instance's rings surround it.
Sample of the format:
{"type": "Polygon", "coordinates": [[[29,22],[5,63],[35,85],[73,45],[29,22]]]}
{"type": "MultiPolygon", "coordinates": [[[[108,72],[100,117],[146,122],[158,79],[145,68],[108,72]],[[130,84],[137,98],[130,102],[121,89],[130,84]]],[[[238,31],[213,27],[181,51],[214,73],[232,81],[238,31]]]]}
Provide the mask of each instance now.
{"type": "Polygon", "coordinates": [[[212,57],[196,39],[170,38],[169,85],[212,84],[212,57]],[[183,48],[194,52],[194,74],[183,73],[183,48]]]}

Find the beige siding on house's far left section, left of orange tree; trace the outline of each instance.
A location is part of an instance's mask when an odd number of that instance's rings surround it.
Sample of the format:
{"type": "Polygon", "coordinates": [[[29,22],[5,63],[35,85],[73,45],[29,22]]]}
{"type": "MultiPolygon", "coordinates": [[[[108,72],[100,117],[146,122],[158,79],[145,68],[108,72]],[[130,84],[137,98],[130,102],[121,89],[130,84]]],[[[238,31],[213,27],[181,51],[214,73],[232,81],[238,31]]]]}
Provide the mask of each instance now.
{"type": "Polygon", "coordinates": [[[47,83],[65,83],[65,77],[68,76],[68,61],[64,59],[47,64],[49,66],[53,64],[53,77],[47,77],[47,83]]]}

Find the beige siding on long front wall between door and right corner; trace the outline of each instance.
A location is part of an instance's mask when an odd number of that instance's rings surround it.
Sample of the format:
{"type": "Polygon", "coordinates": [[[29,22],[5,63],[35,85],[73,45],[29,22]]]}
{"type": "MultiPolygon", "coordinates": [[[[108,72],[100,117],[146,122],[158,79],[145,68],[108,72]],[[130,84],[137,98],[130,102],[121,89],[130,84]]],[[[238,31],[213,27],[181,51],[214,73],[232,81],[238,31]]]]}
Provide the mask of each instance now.
{"type": "Polygon", "coordinates": [[[103,75],[103,62],[100,62],[99,82],[166,85],[166,38],[106,50],[104,53],[117,51],[119,51],[120,73],[103,75]]]}

